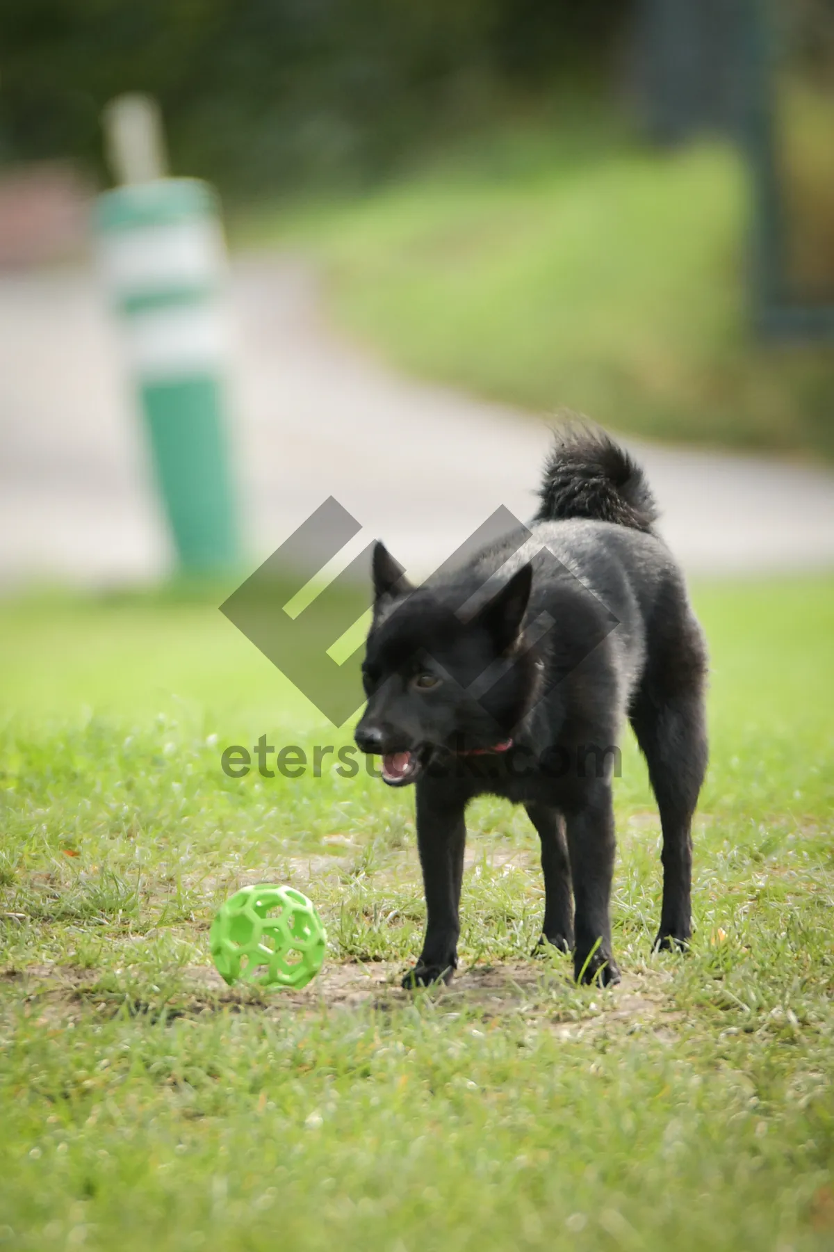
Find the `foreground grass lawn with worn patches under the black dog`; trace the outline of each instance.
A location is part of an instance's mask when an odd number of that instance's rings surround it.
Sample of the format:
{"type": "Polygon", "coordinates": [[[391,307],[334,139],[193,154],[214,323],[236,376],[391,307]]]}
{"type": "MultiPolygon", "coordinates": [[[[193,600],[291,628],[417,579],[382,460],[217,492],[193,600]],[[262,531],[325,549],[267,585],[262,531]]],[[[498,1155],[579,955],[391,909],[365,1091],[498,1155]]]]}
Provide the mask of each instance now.
{"type": "Polygon", "coordinates": [[[220,598],[0,606],[0,1247],[831,1248],[834,582],[695,588],[714,671],[693,950],[649,950],[659,829],[629,742],[613,992],[529,958],[535,836],[489,799],[461,974],[400,992],[413,796],[223,774],[264,732],[349,735],[220,598]],[[264,879],[328,926],[299,993],[210,969],[215,906],[264,879]]]}

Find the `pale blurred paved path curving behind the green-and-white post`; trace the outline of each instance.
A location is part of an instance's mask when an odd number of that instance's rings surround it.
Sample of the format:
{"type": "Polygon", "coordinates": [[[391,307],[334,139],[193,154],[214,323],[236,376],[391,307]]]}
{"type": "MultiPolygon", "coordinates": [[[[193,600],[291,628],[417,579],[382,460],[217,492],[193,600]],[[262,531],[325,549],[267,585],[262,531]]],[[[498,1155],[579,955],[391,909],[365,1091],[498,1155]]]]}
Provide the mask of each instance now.
{"type": "MultiPolygon", "coordinates": [[[[309,270],[233,270],[234,407],[253,560],[329,495],[409,570],[499,505],[526,518],[546,424],[400,378],[340,342],[309,270]]],[[[558,397],[554,397],[558,399],[558,397]]],[[[765,457],[634,443],[661,528],[696,572],[834,567],[834,476],[765,457]]],[[[0,279],[0,582],[156,577],[170,561],[141,427],[100,292],[80,270],[0,279]]]]}

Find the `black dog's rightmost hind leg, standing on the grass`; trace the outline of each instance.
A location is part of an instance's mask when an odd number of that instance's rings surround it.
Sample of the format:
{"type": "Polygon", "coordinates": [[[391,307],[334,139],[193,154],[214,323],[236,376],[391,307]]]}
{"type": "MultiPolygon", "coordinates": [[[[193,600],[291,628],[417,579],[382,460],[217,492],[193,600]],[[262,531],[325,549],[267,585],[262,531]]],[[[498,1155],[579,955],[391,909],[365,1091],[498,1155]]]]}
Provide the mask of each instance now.
{"type": "Polygon", "coordinates": [[[691,820],[706,770],[700,682],[659,699],[640,691],[630,719],[649,766],[663,829],[663,908],[655,948],[685,948],[691,935],[691,820]]]}

